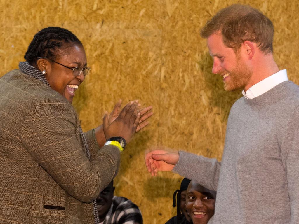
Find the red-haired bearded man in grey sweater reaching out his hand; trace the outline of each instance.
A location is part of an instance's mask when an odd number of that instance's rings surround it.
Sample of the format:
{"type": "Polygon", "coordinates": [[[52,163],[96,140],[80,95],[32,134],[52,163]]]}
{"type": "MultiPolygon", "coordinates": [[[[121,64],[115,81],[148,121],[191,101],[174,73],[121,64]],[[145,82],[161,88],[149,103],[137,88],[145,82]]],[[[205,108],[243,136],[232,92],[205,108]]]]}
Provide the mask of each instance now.
{"type": "Polygon", "coordinates": [[[217,191],[209,223],[299,223],[299,88],[274,61],[273,33],[266,16],[239,4],[201,31],[212,72],[244,95],[231,108],[221,163],[183,151],[145,155],[152,176],[173,171],[217,191]]]}

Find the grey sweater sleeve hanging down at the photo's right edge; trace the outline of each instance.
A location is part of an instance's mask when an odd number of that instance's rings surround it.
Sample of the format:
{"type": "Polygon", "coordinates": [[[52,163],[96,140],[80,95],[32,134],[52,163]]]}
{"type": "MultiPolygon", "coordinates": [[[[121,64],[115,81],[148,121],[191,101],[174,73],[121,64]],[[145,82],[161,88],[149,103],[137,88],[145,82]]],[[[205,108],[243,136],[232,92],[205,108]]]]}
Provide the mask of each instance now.
{"type": "Polygon", "coordinates": [[[286,171],[291,223],[299,223],[299,107],[295,108],[285,127],[281,158],[286,171]]]}

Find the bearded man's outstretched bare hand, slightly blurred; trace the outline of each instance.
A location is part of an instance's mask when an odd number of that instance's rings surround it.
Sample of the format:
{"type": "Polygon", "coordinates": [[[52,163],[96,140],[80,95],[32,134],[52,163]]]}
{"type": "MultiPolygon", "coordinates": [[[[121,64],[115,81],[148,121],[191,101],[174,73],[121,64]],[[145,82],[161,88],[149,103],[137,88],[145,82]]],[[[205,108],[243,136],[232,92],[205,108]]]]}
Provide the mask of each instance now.
{"type": "Polygon", "coordinates": [[[157,176],[158,171],[172,171],[179,161],[179,153],[156,149],[146,153],[144,160],[147,171],[157,176]]]}

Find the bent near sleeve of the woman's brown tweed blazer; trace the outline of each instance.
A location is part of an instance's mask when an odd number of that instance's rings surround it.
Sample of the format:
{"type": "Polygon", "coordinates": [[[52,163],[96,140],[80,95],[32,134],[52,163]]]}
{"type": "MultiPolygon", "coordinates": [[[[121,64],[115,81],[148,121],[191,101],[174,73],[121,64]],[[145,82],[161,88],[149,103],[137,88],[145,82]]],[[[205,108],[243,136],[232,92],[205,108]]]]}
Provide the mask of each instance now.
{"type": "Polygon", "coordinates": [[[97,151],[87,133],[89,162],[72,105],[51,97],[32,105],[22,125],[22,142],[36,162],[61,188],[82,202],[91,202],[115,177],[120,151],[106,145],[97,151]]]}

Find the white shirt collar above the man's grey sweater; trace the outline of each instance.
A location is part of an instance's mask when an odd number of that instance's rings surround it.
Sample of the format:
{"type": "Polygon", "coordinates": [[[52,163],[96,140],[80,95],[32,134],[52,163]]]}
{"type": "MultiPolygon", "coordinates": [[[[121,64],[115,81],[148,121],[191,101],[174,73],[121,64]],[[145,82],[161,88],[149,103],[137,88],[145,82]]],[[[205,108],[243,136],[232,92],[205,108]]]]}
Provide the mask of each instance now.
{"type": "Polygon", "coordinates": [[[283,69],[251,86],[246,93],[244,90],[242,90],[242,94],[246,99],[253,99],[254,97],[266,93],[268,90],[287,80],[289,79],[286,74],[286,69],[283,69]]]}

